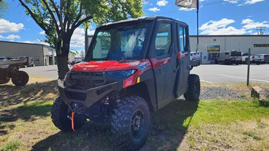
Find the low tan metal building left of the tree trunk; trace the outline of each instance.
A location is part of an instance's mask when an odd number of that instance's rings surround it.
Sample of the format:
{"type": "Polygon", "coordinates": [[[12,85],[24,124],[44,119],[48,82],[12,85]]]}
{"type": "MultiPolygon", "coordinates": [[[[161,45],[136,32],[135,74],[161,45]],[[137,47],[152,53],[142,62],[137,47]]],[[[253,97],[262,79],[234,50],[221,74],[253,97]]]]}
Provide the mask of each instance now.
{"type": "Polygon", "coordinates": [[[54,65],[56,52],[44,44],[0,41],[0,57],[33,57],[35,65],[54,65]]]}

